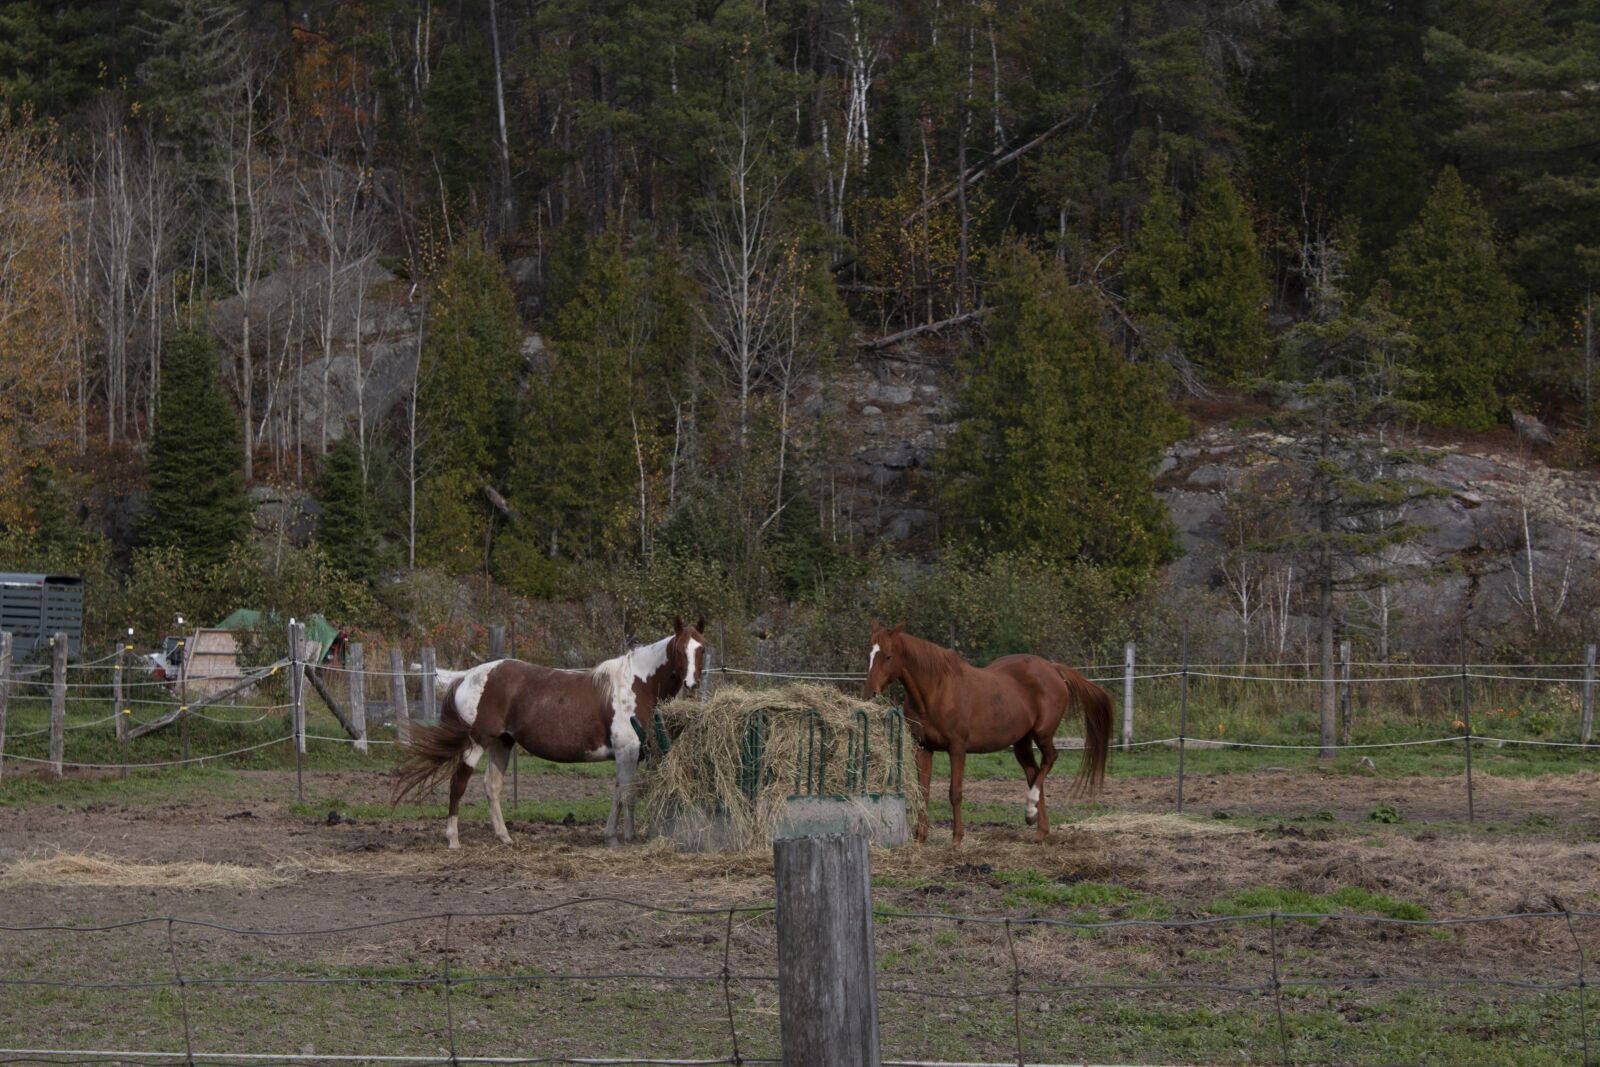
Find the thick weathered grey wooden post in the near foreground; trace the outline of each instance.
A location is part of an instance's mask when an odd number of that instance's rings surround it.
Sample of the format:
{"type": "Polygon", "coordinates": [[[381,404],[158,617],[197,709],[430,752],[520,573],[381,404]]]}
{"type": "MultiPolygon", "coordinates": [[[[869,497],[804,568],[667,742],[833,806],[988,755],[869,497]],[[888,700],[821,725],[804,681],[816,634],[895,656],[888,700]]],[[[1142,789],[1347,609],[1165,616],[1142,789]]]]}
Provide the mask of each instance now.
{"type": "Polygon", "coordinates": [[[784,1067],[878,1067],[867,838],[773,843],[784,1067]]]}

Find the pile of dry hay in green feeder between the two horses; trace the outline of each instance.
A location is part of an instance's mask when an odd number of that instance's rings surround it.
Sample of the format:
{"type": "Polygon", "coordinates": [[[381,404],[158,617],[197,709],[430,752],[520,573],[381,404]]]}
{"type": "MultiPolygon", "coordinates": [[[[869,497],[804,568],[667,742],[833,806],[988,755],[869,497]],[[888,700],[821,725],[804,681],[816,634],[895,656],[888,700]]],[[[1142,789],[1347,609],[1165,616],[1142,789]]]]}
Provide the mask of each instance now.
{"type": "MultiPolygon", "coordinates": [[[[765,845],[784,803],[795,792],[795,765],[805,776],[805,747],[810,713],[829,726],[824,795],[904,792],[907,817],[922,809],[917,789],[917,742],[904,729],[899,768],[886,728],[883,701],[861,701],[835,688],[795,683],[770,689],[718,686],[707,701],[685,696],[659,709],[672,747],[666,757],[646,739],[648,758],[640,768],[637,798],[651,825],[672,813],[718,814],[728,819],[733,837],[746,846],[765,845]],[[867,712],[866,789],[846,789],[850,736],[859,734],[856,710],[867,712]],[[760,790],[752,803],[741,789],[741,766],[750,723],[766,713],[766,745],[760,760],[760,790]],[[898,773],[896,773],[898,771],[898,773]]],[[[816,749],[822,742],[818,736],[816,749]]],[[[805,790],[805,781],[802,781],[805,790]]]]}

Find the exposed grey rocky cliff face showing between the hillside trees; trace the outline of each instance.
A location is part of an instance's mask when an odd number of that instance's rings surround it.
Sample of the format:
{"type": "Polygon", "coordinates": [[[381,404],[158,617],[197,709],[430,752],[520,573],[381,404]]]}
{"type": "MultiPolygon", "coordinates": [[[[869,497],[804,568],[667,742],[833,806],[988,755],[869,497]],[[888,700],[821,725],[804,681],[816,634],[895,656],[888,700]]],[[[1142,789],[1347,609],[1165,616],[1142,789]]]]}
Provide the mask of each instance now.
{"type": "MultiPolygon", "coordinates": [[[[421,306],[410,299],[408,283],[378,266],[370,272],[371,298],[360,310],[347,306],[333,323],[331,357],[309,350],[298,381],[282,387],[282,395],[299,398],[302,426],[318,427],[326,411],[330,437],[344,432],[358,406],[370,422],[392,416],[410,387],[421,306]]],[[[286,314],[294,294],[312,285],[288,275],[261,286],[251,310],[258,322],[286,314]]],[[[242,310],[237,301],[218,307],[224,336],[238,330],[242,310]]],[[[525,347],[536,358],[542,346],[530,334],[525,347]]],[[[800,389],[797,429],[813,432],[829,456],[826,485],[813,491],[838,542],[888,541],[907,555],[938,544],[930,467],[950,429],[950,363],[947,354],[922,344],[853,352],[850,362],[800,389]]],[[[1158,469],[1157,490],[1184,549],[1170,581],[1214,592],[1219,611],[1235,595],[1222,573],[1224,502],[1246,469],[1267,461],[1267,443],[1264,434],[1202,426],[1158,469]]],[[[1600,483],[1594,477],[1550,469],[1538,451],[1467,442],[1424,451],[1430,462],[1406,474],[1443,493],[1406,515],[1426,533],[1398,561],[1432,577],[1394,589],[1387,605],[1411,637],[1437,643],[1466,621],[1493,638],[1512,627],[1573,625],[1592,611],[1600,587],[1600,483]]],[[[1410,640],[1395,635],[1400,648],[1410,640]]]]}

